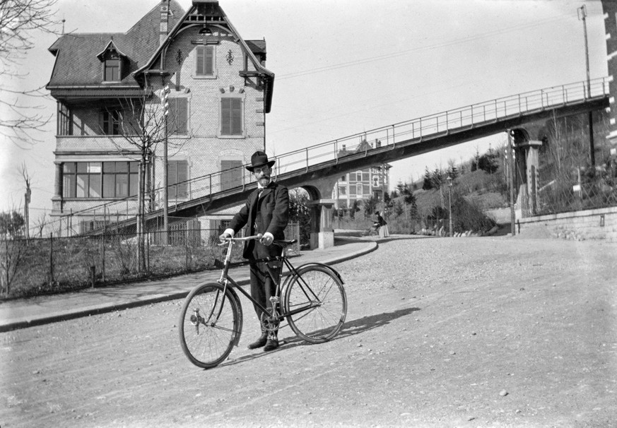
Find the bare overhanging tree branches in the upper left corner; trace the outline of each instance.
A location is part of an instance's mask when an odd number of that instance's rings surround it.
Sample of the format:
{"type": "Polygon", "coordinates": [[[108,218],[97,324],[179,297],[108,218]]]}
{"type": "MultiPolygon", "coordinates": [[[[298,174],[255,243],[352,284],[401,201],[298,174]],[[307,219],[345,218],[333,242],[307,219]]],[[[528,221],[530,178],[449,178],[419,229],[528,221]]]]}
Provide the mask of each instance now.
{"type": "Polygon", "coordinates": [[[20,61],[35,46],[33,33],[55,32],[57,20],[54,6],[57,0],[0,0],[0,134],[15,144],[37,141],[32,131],[42,131],[52,116],[37,112],[42,105],[31,99],[46,97],[43,87],[21,90],[9,85],[13,79],[23,79],[20,61]],[[30,99],[30,100],[28,100],[30,99]]]}

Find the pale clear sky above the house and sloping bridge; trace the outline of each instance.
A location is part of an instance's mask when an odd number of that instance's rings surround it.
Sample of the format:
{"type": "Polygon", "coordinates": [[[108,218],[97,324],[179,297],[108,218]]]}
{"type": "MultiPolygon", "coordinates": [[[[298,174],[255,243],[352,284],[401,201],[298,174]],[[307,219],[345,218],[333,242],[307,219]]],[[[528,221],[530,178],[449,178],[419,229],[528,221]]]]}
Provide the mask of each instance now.
{"type": "MultiPolygon", "coordinates": [[[[186,10],[190,0],[180,0],[186,10]]],[[[587,6],[591,78],[608,74],[601,3],[569,0],[221,0],[245,40],[265,38],[266,67],[276,74],[266,116],[270,155],[415,119],[456,107],[585,79],[583,25],[587,6]]],[[[66,32],[125,32],[157,0],[59,0],[66,32]]],[[[55,37],[37,35],[22,61],[35,88],[49,81],[55,37]]],[[[3,84],[6,84],[3,81],[3,84]]],[[[1,210],[23,206],[18,166],[33,176],[30,218],[51,208],[55,101],[43,140],[20,148],[4,141],[1,210]]],[[[1,112],[0,112],[1,113],[1,112]]],[[[505,133],[392,162],[391,179],[410,182],[425,166],[468,160],[505,133]]]]}

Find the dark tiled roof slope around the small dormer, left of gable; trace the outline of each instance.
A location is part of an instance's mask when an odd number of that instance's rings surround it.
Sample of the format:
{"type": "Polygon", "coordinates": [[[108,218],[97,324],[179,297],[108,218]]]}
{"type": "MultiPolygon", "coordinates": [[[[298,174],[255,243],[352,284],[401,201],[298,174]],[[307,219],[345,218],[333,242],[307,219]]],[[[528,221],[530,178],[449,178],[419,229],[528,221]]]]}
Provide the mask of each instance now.
{"type": "MultiPolygon", "coordinates": [[[[175,25],[177,19],[184,15],[182,6],[176,0],[170,1],[170,25],[175,25]]],[[[139,69],[158,48],[160,37],[160,6],[157,4],[146,13],[127,32],[106,33],[74,33],[59,37],[51,47],[56,57],[52,77],[47,88],[52,90],[61,87],[100,86],[109,87],[110,83],[102,84],[102,66],[97,55],[104,51],[110,41],[127,57],[127,73],[119,83],[112,85],[134,86],[139,88],[131,73],[139,69]]]]}

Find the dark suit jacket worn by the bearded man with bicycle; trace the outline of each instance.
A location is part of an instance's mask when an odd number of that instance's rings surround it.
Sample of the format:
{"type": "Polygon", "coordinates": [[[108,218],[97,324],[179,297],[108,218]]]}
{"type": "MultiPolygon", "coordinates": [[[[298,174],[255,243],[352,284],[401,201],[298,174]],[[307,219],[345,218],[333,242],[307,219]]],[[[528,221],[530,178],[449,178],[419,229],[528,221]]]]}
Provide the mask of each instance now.
{"type": "MultiPolygon", "coordinates": [[[[259,189],[255,189],[247,198],[245,206],[233,216],[230,229],[234,234],[247,225],[247,236],[270,232],[274,239],[285,239],[283,233],[288,222],[289,194],[287,188],[276,182],[270,182],[257,199],[259,189]]],[[[276,245],[265,246],[255,240],[247,241],[242,256],[245,258],[262,258],[278,256],[281,248],[276,245]]]]}

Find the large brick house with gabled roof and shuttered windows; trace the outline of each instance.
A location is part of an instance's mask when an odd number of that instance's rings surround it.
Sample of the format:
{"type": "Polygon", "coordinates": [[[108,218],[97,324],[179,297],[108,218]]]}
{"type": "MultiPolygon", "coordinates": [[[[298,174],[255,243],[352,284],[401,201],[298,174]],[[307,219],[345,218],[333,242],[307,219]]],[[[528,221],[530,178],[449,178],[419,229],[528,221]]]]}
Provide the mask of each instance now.
{"type": "MultiPolygon", "coordinates": [[[[265,40],[243,40],[218,1],[194,0],[185,12],[162,0],[127,32],[65,34],[49,51],[56,61],[47,89],[57,100],[52,217],[63,234],[134,217],[141,153],[127,136],[144,114],[160,124],[165,86],[170,205],[251,181],[242,165],[265,149],[274,73],[265,68],[265,40]],[[189,181],[221,171],[211,182],[189,181]]],[[[154,210],[163,202],[163,144],[148,159],[154,210]]]]}

